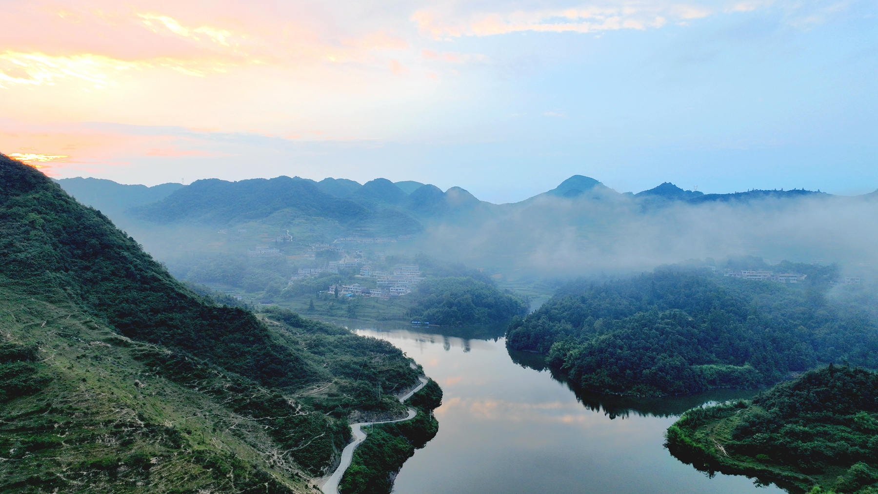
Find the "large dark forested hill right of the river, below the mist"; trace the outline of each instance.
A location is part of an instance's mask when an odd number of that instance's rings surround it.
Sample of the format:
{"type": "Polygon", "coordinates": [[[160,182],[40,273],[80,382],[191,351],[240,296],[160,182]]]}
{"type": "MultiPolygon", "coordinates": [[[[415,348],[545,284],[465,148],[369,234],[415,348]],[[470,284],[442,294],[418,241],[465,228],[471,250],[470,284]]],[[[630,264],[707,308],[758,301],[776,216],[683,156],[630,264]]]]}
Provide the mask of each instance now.
{"type": "Polygon", "coordinates": [[[799,267],[807,283],[675,267],[574,282],[512,323],[507,345],[548,353],[585,389],[644,396],[751,387],[841,360],[878,367],[874,318],[826,297],[835,268],[799,267]]]}

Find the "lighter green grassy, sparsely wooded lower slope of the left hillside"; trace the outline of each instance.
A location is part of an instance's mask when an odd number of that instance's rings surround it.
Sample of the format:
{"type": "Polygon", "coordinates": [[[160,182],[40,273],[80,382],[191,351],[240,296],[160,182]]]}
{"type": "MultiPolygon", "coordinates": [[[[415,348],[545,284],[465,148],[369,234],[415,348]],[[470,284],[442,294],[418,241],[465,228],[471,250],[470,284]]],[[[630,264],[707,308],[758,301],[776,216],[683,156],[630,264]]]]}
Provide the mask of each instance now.
{"type": "MultiPolygon", "coordinates": [[[[62,293],[54,301],[8,287],[0,294],[0,490],[314,491],[313,474],[284,453],[270,433],[274,420],[260,413],[277,401],[270,391],[119,337],[62,293]],[[11,350],[30,354],[20,361],[11,350]]],[[[302,422],[290,442],[326,430],[302,422]]],[[[342,447],[345,424],[329,431],[342,447]]]]}

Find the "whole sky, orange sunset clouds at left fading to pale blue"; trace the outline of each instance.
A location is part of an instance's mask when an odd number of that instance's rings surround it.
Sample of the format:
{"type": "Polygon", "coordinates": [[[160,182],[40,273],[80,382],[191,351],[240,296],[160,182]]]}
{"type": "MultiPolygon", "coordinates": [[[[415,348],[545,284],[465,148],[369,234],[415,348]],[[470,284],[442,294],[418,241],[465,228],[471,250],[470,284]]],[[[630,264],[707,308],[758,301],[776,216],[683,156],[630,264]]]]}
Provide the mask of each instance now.
{"type": "Polygon", "coordinates": [[[4,0],[0,152],[50,176],[416,180],[492,202],[878,189],[867,0],[4,0]]]}

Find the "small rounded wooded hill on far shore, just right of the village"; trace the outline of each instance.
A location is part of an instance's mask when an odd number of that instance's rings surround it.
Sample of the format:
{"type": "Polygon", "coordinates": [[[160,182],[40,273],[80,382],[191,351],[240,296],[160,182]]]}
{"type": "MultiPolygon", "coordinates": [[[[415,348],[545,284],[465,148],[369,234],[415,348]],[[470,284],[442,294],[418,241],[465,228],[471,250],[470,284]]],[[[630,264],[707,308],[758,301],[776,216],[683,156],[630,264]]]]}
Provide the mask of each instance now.
{"type": "Polygon", "coordinates": [[[414,299],[412,317],[449,326],[494,323],[527,312],[519,299],[471,278],[424,280],[407,296],[414,299]]]}

